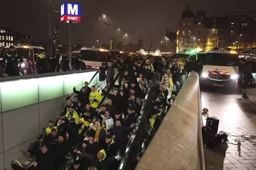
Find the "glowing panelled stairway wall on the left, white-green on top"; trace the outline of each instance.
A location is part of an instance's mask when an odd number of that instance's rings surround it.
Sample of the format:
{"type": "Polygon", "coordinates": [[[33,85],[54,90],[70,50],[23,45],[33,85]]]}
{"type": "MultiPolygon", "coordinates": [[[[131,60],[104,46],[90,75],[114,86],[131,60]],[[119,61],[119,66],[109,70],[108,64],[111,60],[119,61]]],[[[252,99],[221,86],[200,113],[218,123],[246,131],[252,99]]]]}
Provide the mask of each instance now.
{"type": "Polygon", "coordinates": [[[67,103],[73,87],[99,84],[95,69],[35,74],[0,79],[0,170],[10,169],[13,159],[26,158],[20,152],[44,133],[67,103]],[[21,79],[22,78],[22,79],[21,79]]]}

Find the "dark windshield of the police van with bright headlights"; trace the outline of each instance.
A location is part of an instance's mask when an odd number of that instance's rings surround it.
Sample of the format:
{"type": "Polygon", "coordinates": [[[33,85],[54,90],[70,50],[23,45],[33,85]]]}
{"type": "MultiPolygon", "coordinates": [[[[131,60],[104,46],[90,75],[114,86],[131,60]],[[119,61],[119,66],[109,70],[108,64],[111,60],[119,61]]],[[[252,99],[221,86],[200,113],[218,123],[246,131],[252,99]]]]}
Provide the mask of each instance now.
{"type": "Polygon", "coordinates": [[[237,54],[207,53],[204,59],[204,65],[237,67],[238,64],[237,54]]]}

